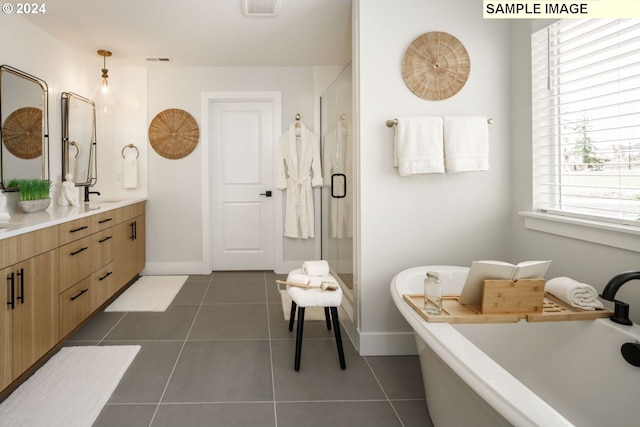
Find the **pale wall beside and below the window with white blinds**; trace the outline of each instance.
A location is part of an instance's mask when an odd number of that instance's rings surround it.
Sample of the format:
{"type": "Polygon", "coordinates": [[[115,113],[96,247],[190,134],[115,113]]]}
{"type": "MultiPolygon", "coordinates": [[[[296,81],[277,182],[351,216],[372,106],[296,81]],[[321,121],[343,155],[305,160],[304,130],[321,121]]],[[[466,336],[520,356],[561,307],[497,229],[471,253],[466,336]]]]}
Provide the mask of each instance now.
{"type": "MultiPolygon", "coordinates": [[[[512,32],[512,179],[511,245],[518,260],[553,260],[548,278],[569,276],[602,291],[610,278],[640,270],[640,254],[610,246],[546,234],[524,228],[519,211],[530,211],[531,194],[531,28],[539,22],[518,21],[512,32]]],[[[631,306],[630,317],[640,323],[640,283],[625,285],[616,298],[631,306]]]]}

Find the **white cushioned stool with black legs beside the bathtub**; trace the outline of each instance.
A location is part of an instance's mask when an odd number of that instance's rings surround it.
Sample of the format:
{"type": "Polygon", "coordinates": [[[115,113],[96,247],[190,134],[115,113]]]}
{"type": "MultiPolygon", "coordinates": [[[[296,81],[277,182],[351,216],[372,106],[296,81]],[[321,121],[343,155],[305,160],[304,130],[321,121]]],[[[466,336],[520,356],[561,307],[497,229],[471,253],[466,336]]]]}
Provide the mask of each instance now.
{"type": "MultiPolygon", "coordinates": [[[[289,277],[293,274],[301,274],[302,270],[293,270],[289,273],[289,277]]],[[[321,282],[338,282],[333,276],[313,276],[311,277],[312,285],[320,285],[321,282]]],[[[344,361],[344,350],[342,348],[342,335],[340,333],[340,321],[338,320],[338,307],[342,303],[342,289],[338,286],[335,291],[317,289],[304,289],[294,286],[287,286],[287,293],[291,297],[291,315],[289,316],[289,331],[293,331],[293,321],[298,309],[298,330],[296,333],[296,358],[295,370],[300,370],[300,355],[302,354],[302,332],[304,329],[304,310],[306,307],[324,307],[325,320],[327,329],[331,330],[333,321],[333,331],[336,336],[336,346],[338,347],[338,358],[340,359],[340,367],[346,368],[344,361]]]]}

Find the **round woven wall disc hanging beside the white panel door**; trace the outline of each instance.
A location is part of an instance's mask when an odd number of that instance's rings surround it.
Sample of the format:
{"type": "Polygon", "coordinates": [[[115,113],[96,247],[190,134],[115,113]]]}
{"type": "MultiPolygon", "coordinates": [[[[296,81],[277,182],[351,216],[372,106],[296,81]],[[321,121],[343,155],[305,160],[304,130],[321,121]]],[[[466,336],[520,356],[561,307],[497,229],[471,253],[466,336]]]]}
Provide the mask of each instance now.
{"type": "Polygon", "coordinates": [[[151,147],[167,159],[188,156],[198,145],[200,129],[191,114],[177,108],[158,113],[149,125],[151,147]]]}

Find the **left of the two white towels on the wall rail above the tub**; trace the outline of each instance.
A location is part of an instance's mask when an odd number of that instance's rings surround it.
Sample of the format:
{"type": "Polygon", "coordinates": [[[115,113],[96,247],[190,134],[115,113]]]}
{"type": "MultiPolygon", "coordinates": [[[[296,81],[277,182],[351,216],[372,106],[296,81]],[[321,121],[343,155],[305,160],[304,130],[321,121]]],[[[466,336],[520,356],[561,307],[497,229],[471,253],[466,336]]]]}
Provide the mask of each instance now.
{"type": "Polygon", "coordinates": [[[444,173],[442,117],[398,117],[393,154],[400,176],[444,173]]]}

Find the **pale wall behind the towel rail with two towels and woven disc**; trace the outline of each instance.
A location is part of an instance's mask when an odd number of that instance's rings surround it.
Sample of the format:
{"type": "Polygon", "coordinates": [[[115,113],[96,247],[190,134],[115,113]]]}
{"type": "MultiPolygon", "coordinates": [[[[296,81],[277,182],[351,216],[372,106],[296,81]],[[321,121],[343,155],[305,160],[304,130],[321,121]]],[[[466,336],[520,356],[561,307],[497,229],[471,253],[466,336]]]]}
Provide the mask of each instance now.
{"type": "Polygon", "coordinates": [[[356,72],[359,99],[359,341],[362,354],[403,353],[413,336],[389,283],[417,265],[469,265],[510,259],[510,24],[483,20],[476,0],[359,1],[356,72]],[[458,94],[415,96],[402,78],[407,46],[430,31],[457,37],[471,59],[458,94]],[[393,130],[404,115],[483,115],[490,127],[490,170],[401,177],[393,168],[393,130]]]}

